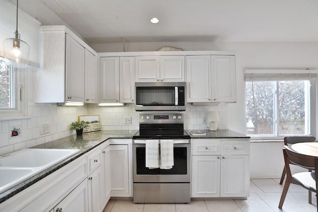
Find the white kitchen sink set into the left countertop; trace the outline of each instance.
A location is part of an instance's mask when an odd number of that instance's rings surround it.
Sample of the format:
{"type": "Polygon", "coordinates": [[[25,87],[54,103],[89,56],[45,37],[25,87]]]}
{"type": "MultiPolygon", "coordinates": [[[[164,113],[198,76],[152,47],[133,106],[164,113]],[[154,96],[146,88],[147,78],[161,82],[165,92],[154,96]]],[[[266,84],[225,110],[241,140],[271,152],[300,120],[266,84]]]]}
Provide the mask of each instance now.
{"type": "Polygon", "coordinates": [[[0,156],[0,193],[79,152],[27,148],[0,156]]]}

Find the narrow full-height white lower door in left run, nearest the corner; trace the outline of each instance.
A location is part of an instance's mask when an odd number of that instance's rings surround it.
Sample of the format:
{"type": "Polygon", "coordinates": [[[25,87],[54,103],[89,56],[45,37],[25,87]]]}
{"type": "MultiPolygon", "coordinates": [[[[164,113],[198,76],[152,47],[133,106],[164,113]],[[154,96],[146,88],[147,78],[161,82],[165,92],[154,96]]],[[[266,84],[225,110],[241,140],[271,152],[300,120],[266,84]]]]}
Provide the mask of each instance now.
{"type": "Polygon", "coordinates": [[[103,159],[104,159],[104,188],[105,188],[105,197],[104,197],[104,205],[110,199],[110,191],[111,191],[111,161],[110,161],[110,146],[107,146],[103,149],[103,159]]]}

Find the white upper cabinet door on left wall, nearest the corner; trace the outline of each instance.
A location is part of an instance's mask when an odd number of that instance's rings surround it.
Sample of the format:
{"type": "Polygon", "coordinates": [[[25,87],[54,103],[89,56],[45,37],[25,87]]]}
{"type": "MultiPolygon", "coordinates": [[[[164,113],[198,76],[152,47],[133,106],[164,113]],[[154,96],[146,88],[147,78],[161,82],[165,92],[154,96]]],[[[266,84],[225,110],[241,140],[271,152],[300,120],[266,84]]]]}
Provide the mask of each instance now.
{"type": "Polygon", "coordinates": [[[85,102],[96,103],[97,69],[96,57],[85,49],[85,102]]]}

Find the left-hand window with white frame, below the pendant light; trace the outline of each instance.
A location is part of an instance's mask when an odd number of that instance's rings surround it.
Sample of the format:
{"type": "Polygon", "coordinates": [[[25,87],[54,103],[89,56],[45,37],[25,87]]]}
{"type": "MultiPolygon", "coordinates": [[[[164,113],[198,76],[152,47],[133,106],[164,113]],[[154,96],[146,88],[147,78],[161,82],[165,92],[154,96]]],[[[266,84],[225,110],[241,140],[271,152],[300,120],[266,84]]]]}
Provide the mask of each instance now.
{"type": "Polygon", "coordinates": [[[25,71],[15,71],[0,57],[0,118],[25,116],[25,71]]]}

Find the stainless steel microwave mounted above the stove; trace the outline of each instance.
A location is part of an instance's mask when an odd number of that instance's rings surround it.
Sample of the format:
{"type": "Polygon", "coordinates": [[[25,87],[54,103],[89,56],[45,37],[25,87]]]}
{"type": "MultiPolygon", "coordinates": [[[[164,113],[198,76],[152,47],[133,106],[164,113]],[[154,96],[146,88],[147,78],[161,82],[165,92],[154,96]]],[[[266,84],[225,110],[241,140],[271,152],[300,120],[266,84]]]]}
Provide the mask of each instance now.
{"type": "Polygon", "coordinates": [[[136,111],[185,111],[185,82],[136,82],[136,111]]]}

